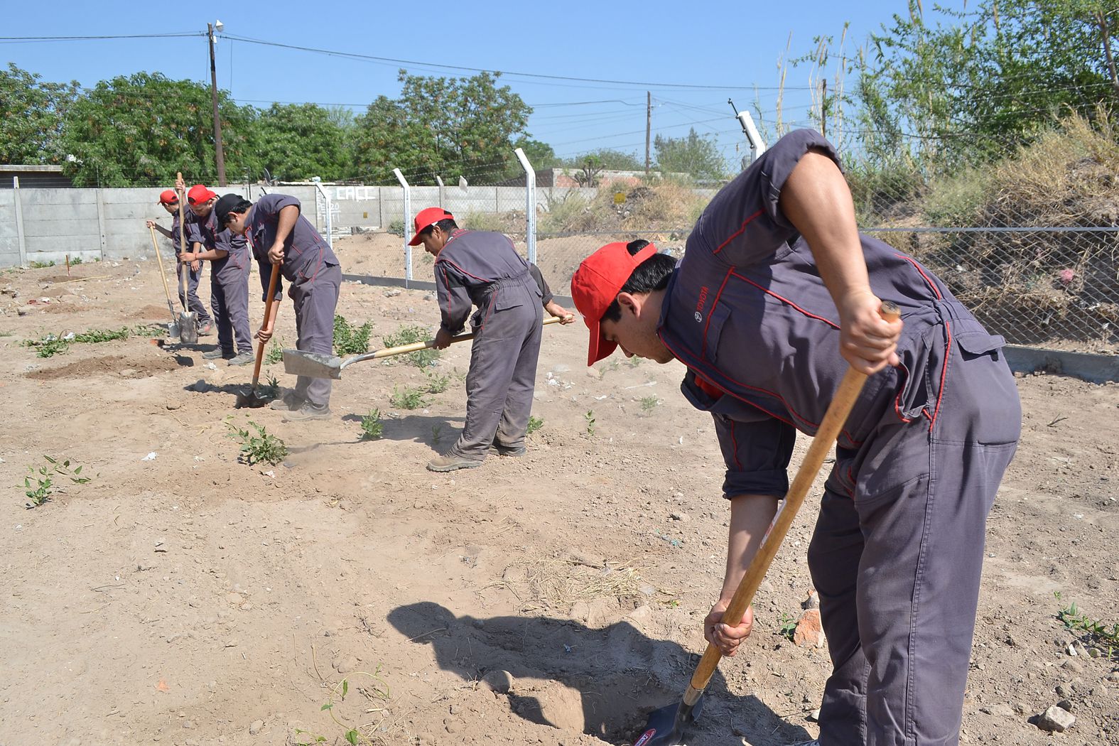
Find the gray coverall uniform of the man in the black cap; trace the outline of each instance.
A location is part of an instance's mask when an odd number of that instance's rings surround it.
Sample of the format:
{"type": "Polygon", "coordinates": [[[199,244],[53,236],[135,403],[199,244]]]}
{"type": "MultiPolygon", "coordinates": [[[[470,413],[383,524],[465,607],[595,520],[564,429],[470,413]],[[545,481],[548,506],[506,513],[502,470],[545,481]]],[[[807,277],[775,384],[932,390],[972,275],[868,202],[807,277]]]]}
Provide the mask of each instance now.
{"type": "MultiPolygon", "coordinates": [[[[300,202],[289,195],[264,195],[250,208],[245,238],[261,268],[261,300],[267,300],[269,281],[272,278],[272,263],[269,249],[275,243],[280,210],[289,205],[301,209],[300,202]]],[[[283,298],[283,281],[291,283],[288,295],[295,305],[295,349],[304,352],[333,355],[335,309],[342,282],[342,271],[338,257],[327,242],[302,214],[284,240],[282,280],[276,282],[276,300],[283,298]]],[[[295,396],[317,408],[330,404],[330,379],[295,379],[295,396]]]]}

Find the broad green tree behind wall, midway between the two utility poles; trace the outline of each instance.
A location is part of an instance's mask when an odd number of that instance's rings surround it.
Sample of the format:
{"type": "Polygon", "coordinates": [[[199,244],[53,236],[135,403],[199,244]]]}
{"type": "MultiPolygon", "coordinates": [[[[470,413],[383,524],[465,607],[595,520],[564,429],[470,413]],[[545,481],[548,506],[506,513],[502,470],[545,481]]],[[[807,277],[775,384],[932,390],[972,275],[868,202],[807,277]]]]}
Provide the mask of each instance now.
{"type": "Polygon", "coordinates": [[[421,183],[436,174],[474,183],[504,178],[533,110],[509,86],[498,86],[499,76],[424,77],[402,69],[399,97],[378,96],[357,119],[358,176],[391,180],[398,168],[421,183]]]}

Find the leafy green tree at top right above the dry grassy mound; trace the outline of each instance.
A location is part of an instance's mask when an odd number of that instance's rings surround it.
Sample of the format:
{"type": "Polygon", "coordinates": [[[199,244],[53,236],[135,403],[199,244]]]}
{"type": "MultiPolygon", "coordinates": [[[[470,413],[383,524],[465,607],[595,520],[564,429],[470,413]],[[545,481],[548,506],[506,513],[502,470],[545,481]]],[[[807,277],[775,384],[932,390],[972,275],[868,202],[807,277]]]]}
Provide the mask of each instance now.
{"type": "Polygon", "coordinates": [[[1113,0],[981,0],[970,11],[919,0],[872,35],[861,73],[863,147],[888,160],[904,136],[927,173],[998,158],[1059,116],[1119,104],[1113,0]]]}

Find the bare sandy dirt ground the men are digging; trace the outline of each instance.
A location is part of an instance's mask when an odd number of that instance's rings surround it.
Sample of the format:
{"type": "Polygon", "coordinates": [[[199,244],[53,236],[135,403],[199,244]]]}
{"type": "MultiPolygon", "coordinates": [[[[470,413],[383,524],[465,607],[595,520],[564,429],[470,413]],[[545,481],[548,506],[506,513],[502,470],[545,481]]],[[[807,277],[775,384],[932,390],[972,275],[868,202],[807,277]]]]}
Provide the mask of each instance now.
{"type": "MultiPolygon", "coordinates": [[[[342,246],[344,270],[377,274],[369,251],[342,246]]],[[[422,408],[389,397],[424,372],[383,361],[347,369],[330,421],[282,423],[234,409],[252,371],[203,360],[214,338],[46,359],[20,344],[166,321],[153,261],[9,272],[0,290],[0,745],[344,744],[350,728],[373,744],[624,744],[678,701],[727,517],[713,427],[679,395],[679,366],[587,370],[583,327],[551,327],[528,455],[440,475],[423,465],[461,426],[466,346],[432,369],[451,386],[422,408]],[[372,408],[384,437],[363,441],[372,408]],[[238,463],[227,419],[291,455],[238,463]],[[44,455],[93,479],[25,509],[17,485],[44,455]]],[[[434,328],[424,296],[346,283],[339,312],[370,321],[379,347],[403,324],[434,328]]],[[[254,323],[262,310],[254,299],[254,323]]],[[[279,323],[291,344],[290,302],[279,323]]],[[[1056,615],[1075,602],[1119,621],[1119,386],[1018,385],[1025,427],[990,517],[963,737],[1113,744],[1119,655],[1070,655],[1081,635],[1056,615]],[[1059,700],[1070,730],[1028,723],[1059,700]]],[[[826,650],[780,634],[810,591],[815,517],[809,500],[689,743],[817,734],[826,650]]]]}

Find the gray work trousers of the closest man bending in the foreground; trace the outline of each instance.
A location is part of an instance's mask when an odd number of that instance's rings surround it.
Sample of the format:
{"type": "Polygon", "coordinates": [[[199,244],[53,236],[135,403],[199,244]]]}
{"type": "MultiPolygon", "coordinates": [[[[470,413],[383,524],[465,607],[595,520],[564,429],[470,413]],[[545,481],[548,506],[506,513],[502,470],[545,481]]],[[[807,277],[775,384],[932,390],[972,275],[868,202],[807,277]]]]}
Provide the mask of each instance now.
{"type": "Polygon", "coordinates": [[[959,742],[986,519],[1022,416],[986,334],[931,350],[911,387],[923,412],[904,423],[914,402],[885,402],[825,488],[808,550],[833,662],[821,746],[959,742]]]}

